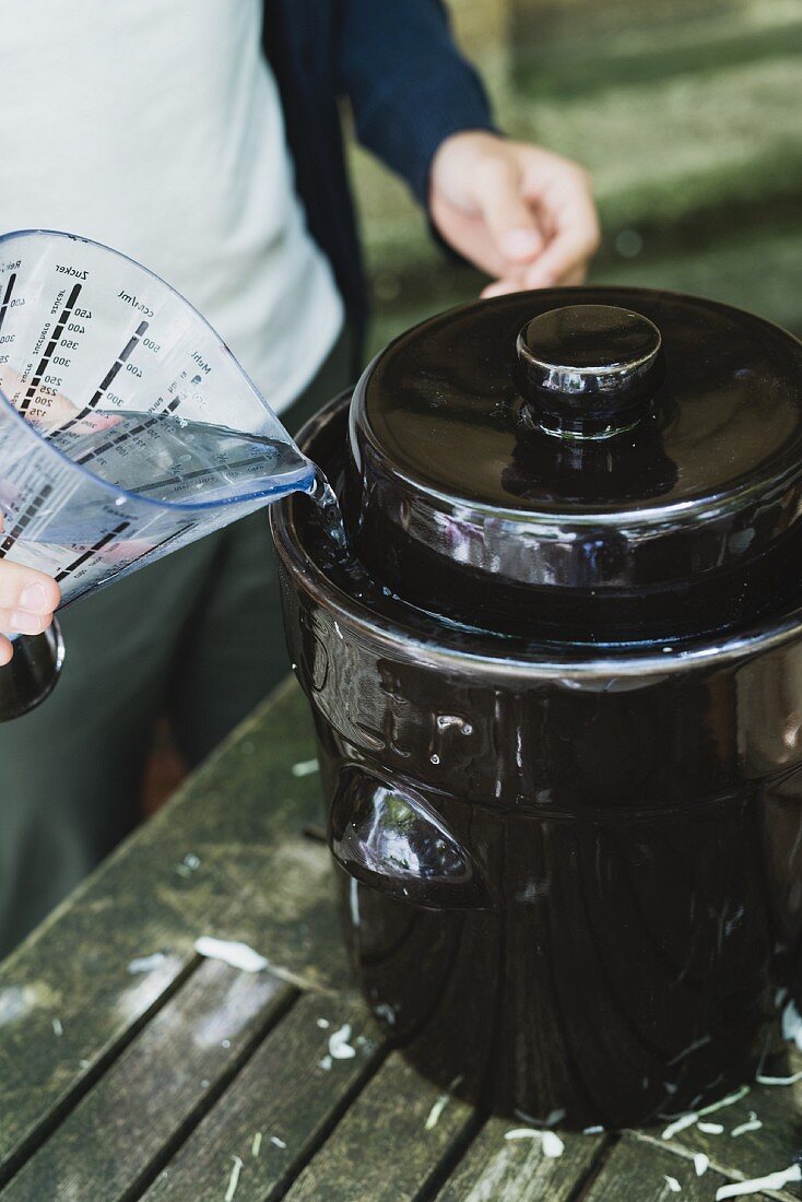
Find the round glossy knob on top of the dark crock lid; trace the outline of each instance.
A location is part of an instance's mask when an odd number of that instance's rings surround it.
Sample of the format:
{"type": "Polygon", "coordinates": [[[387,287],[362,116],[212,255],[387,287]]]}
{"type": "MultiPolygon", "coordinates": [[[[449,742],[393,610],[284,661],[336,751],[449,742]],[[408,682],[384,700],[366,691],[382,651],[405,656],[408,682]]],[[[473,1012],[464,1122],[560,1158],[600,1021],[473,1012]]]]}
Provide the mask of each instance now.
{"type": "Polygon", "coordinates": [[[565,438],[631,429],[665,374],[658,327],[617,305],[549,309],[523,327],[517,351],[530,418],[565,438]]]}

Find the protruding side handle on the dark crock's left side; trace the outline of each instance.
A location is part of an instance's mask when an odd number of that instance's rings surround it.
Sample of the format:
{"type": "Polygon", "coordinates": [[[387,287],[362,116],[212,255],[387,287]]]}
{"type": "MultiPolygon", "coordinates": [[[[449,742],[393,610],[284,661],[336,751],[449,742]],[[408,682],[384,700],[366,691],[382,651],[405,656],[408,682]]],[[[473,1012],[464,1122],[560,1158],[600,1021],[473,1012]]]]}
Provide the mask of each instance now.
{"type": "Polygon", "coordinates": [[[426,803],[356,764],[340,770],[328,845],[350,876],[399,902],[435,910],[492,906],[475,861],[426,803]]]}

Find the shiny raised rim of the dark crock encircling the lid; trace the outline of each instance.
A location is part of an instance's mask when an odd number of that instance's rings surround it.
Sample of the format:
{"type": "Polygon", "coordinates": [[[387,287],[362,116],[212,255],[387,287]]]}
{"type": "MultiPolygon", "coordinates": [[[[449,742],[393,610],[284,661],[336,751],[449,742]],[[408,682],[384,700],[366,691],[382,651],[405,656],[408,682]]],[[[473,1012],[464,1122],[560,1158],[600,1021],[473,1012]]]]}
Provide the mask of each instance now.
{"type": "MultiPolygon", "coordinates": [[[[326,466],[340,499],[349,465],[350,399],[351,394],[344,393],[304,428],[304,445],[314,451],[316,462],[326,466]]],[[[493,679],[503,676],[571,680],[576,688],[589,689],[606,680],[607,689],[628,689],[632,677],[641,682],[646,678],[664,679],[712,659],[731,664],[747,655],[762,654],[794,641],[802,629],[798,588],[786,585],[772,591],[762,581],[756,582],[756,587],[765,612],[764,620],[730,623],[724,631],[717,627],[713,637],[707,632],[703,611],[694,607],[693,625],[689,624],[689,630],[681,637],[672,637],[661,626],[657,631],[658,637],[644,629],[632,642],[605,642],[600,635],[592,643],[574,639],[566,623],[570,606],[565,602],[570,597],[565,593],[560,594],[563,608],[554,627],[546,627],[534,636],[525,627],[516,629],[515,633],[503,626],[499,629],[503,613],[498,607],[498,596],[486,607],[488,620],[485,625],[468,625],[403,600],[372,576],[356,554],[343,559],[327,537],[320,514],[319,506],[301,496],[293,498],[289,506],[277,506],[271,511],[274,536],[279,536],[279,546],[292,563],[292,570],[304,577],[304,589],[322,607],[360,630],[362,637],[384,639],[393,655],[427,664],[433,671],[450,670],[457,662],[461,671],[493,679]],[[611,684],[611,680],[614,683],[611,684]]],[[[417,577],[410,577],[408,585],[423,588],[428,582],[429,566],[418,563],[417,577]]],[[[782,570],[796,584],[792,566],[792,561],[784,561],[782,570]]],[[[461,589],[464,591],[467,588],[467,577],[462,577],[461,589]]],[[[684,593],[679,601],[688,595],[695,596],[696,593],[684,593]]],[[[749,590],[744,590],[744,597],[749,601],[745,611],[751,615],[754,599],[749,590]]],[[[642,600],[648,602],[649,599],[644,596],[642,600]]],[[[717,620],[720,600],[717,596],[717,620]]],[[[742,606],[742,597],[732,591],[725,594],[725,600],[730,615],[742,606]]],[[[458,606],[461,594],[453,595],[451,602],[458,606]]],[[[586,597],[580,595],[576,605],[584,615],[586,597]]]]}

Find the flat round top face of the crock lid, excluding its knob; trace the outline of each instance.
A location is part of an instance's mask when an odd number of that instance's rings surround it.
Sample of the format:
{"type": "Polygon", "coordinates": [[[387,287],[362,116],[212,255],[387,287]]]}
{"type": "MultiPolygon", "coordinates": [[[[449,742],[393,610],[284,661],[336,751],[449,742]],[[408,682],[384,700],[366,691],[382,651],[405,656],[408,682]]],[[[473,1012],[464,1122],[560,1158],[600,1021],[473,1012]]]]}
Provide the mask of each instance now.
{"type": "MultiPolygon", "coordinates": [[[[578,352],[577,352],[578,353],[578,352]]],[[[599,347],[594,347],[594,356],[599,347]]],[[[553,288],[432,317],[374,361],[356,392],[364,440],[410,482],[464,504],[570,516],[702,501],[800,471],[802,345],[770,322],[696,297],[644,288],[553,288]],[[660,331],[666,379],[659,447],[673,471],[638,496],[626,472],[594,505],[574,474],[511,492],[506,471],[530,432],[518,422],[516,340],[571,303],[628,305],[660,331]]],[[[362,445],[362,439],[360,440],[362,445]]]]}

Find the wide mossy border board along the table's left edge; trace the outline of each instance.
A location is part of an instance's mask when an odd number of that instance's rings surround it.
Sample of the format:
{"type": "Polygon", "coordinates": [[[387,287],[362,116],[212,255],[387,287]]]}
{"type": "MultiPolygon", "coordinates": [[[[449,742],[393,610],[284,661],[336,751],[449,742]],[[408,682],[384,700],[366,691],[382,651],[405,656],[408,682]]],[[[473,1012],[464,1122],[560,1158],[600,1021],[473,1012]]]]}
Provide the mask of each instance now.
{"type": "Polygon", "coordinates": [[[289,682],[0,965],[0,1183],[170,995],[198,935],[244,939],[311,987],[349,982],[328,853],[302,834],[319,779],[292,774],[314,754],[289,682]],[[154,952],[158,969],[129,972],[154,952]]]}

